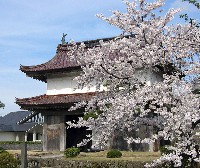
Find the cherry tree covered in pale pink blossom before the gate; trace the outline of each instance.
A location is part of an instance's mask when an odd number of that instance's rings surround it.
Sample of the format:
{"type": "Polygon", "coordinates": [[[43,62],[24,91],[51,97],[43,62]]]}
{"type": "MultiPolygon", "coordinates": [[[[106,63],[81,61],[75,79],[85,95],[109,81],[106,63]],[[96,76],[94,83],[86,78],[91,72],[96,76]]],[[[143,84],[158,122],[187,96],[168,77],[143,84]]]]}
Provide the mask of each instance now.
{"type": "Polygon", "coordinates": [[[100,40],[92,48],[71,42],[72,59],[83,69],[75,79],[77,87],[95,86],[97,92],[71,108],[85,107],[85,115],[92,116],[68,124],[93,130],[79,145],[91,140],[94,130],[99,146],[106,146],[115,130],[130,132],[124,137],[129,144],[169,140],[168,152],[146,167],[195,166],[200,161],[200,100],[192,92],[191,80],[200,74],[200,30],[191,24],[170,24],[180,10],[164,15],[164,0],[123,2],[125,13],[97,15],[120,28],[122,35],[100,40]],[[153,80],[155,74],[161,78],[153,80]],[[133,138],[131,132],[143,125],[154,128],[152,135],[133,138]]]}

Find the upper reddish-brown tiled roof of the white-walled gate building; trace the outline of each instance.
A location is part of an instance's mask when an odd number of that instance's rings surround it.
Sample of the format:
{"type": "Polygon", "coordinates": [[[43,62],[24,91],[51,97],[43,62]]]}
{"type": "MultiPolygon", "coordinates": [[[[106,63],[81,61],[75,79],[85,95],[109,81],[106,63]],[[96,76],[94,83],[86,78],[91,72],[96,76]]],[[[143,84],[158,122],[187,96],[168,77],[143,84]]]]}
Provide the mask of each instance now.
{"type": "MultiPolygon", "coordinates": [[[[104,38],[90,41],[83,41],[88,47],[94,47],[99,44],[99,40],[108,41],[113,38],[104,38]]],[[[80,42],[77,42],[79,45],[80,42]]],[[[71,44],[60,44],[57,47],[56,55],[48,62],[35,65],[35,66],[20,66],[20,70],[27,74],[27,76],[34,79],[46,82],[48,73],[66,72],[73,70],[80,70],[81,66],[72,58],[70,58],[70,47],[71,44]]]]}

